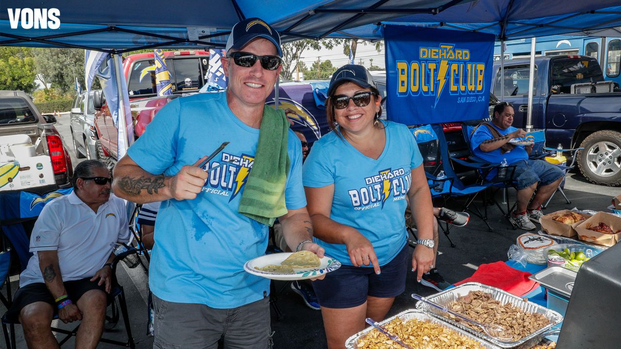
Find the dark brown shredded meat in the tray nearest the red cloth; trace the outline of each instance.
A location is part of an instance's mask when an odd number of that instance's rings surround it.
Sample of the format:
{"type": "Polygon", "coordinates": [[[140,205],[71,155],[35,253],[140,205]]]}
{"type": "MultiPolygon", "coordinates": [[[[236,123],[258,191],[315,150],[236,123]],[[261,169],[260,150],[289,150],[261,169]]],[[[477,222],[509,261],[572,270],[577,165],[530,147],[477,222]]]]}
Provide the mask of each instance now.
{"type": "MultiPolygon", "coordinates": [[[[448,309],[483,324],[501,325],[513,335],[512,340],[514,342],[550,324],[550,320],[542,314],[524,312],[511,303],[501,304],[501,302],[493,299],[491,294],[483,291],[468,292],[466,296],[459,297],[455,302],[449,304],[448,309]]],[[[451,319],[483,333],[483,330],[476,325],[455,317],[451,317],[451,319]]]]}

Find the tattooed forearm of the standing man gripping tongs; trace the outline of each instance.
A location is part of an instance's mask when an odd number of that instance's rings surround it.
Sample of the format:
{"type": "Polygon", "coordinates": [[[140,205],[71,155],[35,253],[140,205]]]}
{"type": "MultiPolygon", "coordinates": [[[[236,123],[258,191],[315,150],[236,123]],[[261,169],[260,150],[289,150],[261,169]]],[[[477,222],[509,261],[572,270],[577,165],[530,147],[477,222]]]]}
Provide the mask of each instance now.
{"type": "Polygon", "coordinates": [[[117,164],[114,168],[114,194],[138,204],[163,201],[171,198],[170,178],[164,174],[151,174],[136,165],[117,164]]]}

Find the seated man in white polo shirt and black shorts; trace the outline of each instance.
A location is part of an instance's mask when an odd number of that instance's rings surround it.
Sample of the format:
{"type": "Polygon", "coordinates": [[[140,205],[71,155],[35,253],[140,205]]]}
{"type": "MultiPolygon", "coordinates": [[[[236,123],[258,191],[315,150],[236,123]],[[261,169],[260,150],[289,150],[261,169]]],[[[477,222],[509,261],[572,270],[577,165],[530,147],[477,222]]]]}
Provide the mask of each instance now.
{"type": "Polygon", "coordinates": [[[81,320],[76,348],[95,348],[104,329],[111,289],[111,243],[129,242],[125,203],[112,195],[106,165],[86,160],[76,166],[73,193],[47,204],[30,237],[30,258],[20,274],[9,311],[24,327],[29,348],[58,348],[53,315],[81,320]]]}

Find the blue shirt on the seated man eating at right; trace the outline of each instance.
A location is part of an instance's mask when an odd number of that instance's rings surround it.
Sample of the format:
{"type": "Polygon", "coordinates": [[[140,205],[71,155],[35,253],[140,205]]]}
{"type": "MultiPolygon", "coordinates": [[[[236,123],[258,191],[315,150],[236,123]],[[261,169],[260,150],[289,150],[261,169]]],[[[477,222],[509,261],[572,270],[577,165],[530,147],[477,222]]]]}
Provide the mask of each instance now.
{"type": "MultiPolygon", "coordinates": [[[[494,127],[494,129],[500,132],[501,135],[507,135],[517,130],[513,126],[507,127],[506,130],[499,129],[499,127],[496,127],[496,125],[492,126],[494,127]]],[[[491,152],[483,152],[483,150],[479,148],[479,145],[481,145],[481,143],[483,143],[485,140],[492,138],[495,137],[492,135],[492,132],[489,131],[489,128],[487,126],[481,125],[477,127],[476,131],[474,131],[474,134],[472,135],[472,140],[470,142],[474,155],[491,163],[501,163],[503,159],[507,159],[507,164],[509,165],[511,165],[512,163],[516,163],[520,160],[528,159],[528,152],[526,152],[524,147],[520,145],[516,145],[513,150],[504,154],[502,153],[501,148],[492,150],[491,152]]],[[[516,139],[524,140],[524,138],[516,139]]],[[[496,170],[490,171],[490,173],[487,175],[487,179],[491,179],[494,176],[496,176],[496,170]]]]}

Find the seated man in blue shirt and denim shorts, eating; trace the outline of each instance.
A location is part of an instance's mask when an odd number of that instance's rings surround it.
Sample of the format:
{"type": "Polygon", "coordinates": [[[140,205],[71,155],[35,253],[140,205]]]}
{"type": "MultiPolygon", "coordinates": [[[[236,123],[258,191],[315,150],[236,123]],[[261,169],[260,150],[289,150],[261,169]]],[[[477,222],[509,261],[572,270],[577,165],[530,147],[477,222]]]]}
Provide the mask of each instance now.
{"type": "MultiPolygon", "coordinates": [[[[532,145],[509,143],[512,139],[519,140],[526,135],[524,130],[512,126],[513,118],[513,104],[496,104],[491,124],[479,124],[474,130],[471,147],[474,155],[486,161],[502,163],[506,160],[508,165],[515,166],[513,181],[517,189],[517,206],[509,214],[509,219],[520,229],[533,230],[535,225],[532,222],[539,222],[543,215],[543,202],[556,191],[565,174],[551,163],[530,160],[528,155],[532,152],[532,145]],[[535,189],[537,194],[532,197],[535,189]]],[[[492,170],[486,179],[496,174],[497,170],[492,170]]]]}

